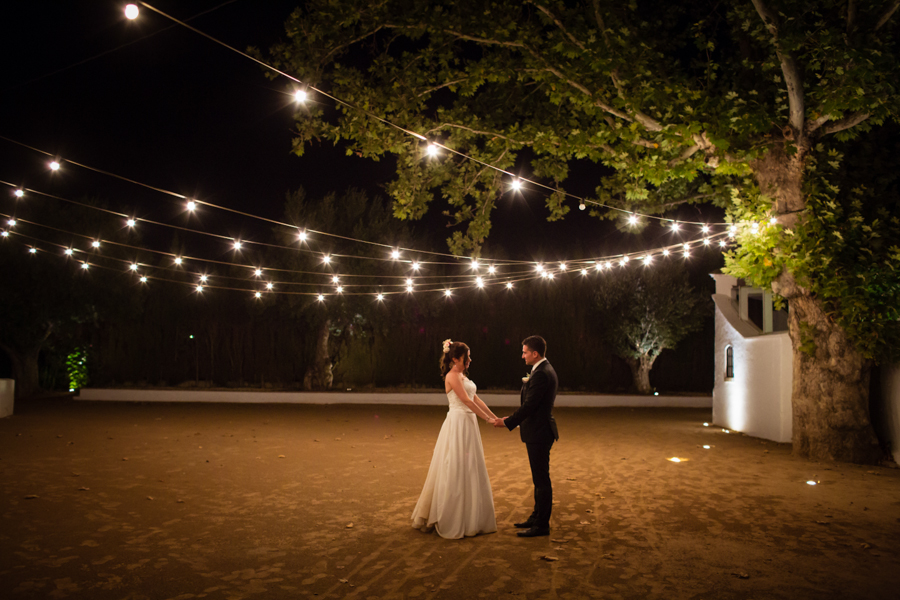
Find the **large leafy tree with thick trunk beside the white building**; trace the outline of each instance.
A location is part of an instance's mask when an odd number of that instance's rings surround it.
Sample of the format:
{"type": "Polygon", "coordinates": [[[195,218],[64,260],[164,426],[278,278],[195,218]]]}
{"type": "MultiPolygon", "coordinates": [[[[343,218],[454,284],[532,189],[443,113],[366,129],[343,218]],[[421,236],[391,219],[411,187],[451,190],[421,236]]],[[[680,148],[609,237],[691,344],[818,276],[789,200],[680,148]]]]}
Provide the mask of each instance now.
{"type": "MultiPolygon", "coordinates": [[[[486,165],[511,169],[517,159],[556,190],[551,219],[570,208],[562,185],[573,161],[606,167],[596,200],[608,206],[728,207],[740,222],[729,268],[790,302],[795,452],[866,462],[879,458],[869,370],[890,337],[873,345],[866,334],[896,319],[854,313],[840,292],[858,288],[853,275],[805,253],[843,253],[843,265],[854,251],[871,254],[867,281],[896,305],[892,243],[867,245],[861,229],[849,245],[831,235],[847,223],[828,211],[840,194],[823,169],[836,146],[897,118],[898,6],[311,0],[271,60],[346,102],[298,112],[295,150],[326,138],[362,156],[393,155],[394,214],[419,218],[439,193],[458,226],[457,253],[478,253],[508,183],[486,165]],[[426,160],[423,140],[476,160],[446,151],[426,160]]],[[[860,201],[879,199],[863,192],[860,201]]],[[[892,216],[865,226],[884,241],[896,233],[885,226],[892,216]]]]}

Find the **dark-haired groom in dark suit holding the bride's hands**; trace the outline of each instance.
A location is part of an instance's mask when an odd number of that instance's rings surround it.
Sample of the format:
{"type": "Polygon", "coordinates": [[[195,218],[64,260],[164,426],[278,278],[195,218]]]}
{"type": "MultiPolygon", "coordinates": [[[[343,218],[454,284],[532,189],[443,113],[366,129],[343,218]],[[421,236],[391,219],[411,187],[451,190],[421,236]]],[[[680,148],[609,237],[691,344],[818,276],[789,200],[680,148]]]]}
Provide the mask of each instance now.
{"type": "Polygon", "coordinates": [[[553,486],[550,483],[550,448],[559,439],[556,421],[551,411],[556,401],[559,380],[556,371],[544,358],[547,342],[533,335],[522,342],[522,358],[531,367],[531,374],[522,378],[521,406],[508,417],[494,421],[494,427],[510,431],[519,427],[519,434],[528,450],[531,480],[534,482],[534,511],[516,527],[524,529],[519,537],[550,535],[550,510],[553,506],[553,486]]]}

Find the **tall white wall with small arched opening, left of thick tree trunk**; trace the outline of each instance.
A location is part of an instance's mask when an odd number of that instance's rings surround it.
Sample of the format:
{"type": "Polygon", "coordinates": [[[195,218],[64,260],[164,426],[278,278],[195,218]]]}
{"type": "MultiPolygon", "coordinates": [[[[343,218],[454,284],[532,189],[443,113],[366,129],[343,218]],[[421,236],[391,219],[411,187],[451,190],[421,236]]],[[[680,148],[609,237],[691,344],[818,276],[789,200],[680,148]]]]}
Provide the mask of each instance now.
{"type": "Polygon", "coordinates": [[[722,294],[716,303],[713,422],[776,442],[790,442],[793,354],[787,332],[761,334],[742,321],[722,294]],[[725,349],[734,351],[734,377],[725,379],[725,349]]]}

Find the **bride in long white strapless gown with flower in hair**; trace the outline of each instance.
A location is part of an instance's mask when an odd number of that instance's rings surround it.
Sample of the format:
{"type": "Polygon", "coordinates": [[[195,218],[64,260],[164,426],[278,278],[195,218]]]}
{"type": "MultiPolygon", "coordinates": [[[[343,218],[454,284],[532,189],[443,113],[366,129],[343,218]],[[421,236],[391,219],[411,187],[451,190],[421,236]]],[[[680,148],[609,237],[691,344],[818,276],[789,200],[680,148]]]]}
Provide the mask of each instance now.
{"type": "Polygon", "coordinates": [[[425,487],[413,511],[413,527],[442,538],[497,531],[494,496],[484,464],[478,417],[497,418],[475,395],[475,383],[466,376],[472,363],[469,347],[444,341],[441,375],[450,410],[438,434],[425,487]]]}

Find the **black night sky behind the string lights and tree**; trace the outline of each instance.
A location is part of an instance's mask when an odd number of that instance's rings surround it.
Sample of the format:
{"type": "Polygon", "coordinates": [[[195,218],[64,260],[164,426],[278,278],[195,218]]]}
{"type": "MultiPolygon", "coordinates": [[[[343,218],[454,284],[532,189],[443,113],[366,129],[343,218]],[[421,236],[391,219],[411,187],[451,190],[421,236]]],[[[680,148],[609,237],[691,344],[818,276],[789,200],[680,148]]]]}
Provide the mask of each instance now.
{"type": "MultiPolygon", "coordinates": [[[[347,157],[343,148],[329,143],[302,158],[291,154],[294,109],[288,81],[267,79],[259,65],[147,9],[128,21],[125,4],[3,4],[0,136],[63,160],[274,219],[282,217],[285,193],[299,186],[312,196],[348,185],[375,194],[390,180],[390,161],[347,157]]],[[[190,24],[244,50],[250,45],[266,49],[282,37],[296,4],[159,0],[154,6],[182,20],[212,9],[190,24]]],[[[112,208],[133,207],[138,216],[178,222],[182,208],[174,198],[72,165],[63,164],[51,176],[47,161],[0,140],[3,181],[73,199],[99,197],[112,208]]],[[[602,176],[602,168],[590,164],[575,165],[572,172],[566,187],[582,195],[590,194],[602,176]]],[[[6,198],[2,210],[10,206],[6,198]]],[[[574,201],[568,218],[548,223],[543,202],[539,194],[501,201],[489,244],[503,246],[512,256],[527,239],[540,252],[554,254],[535,258],[556,260],[566,258],[573,240],[593,252],[667,242],[659,231],[620,233],[579,211],[574,201]]],[[[440,250],[449,236],[440,216],[445,208],[435,202],[415,228],[440,250]]],[[[696,213],[685,216],[698,218],[696,213]]],[[[253,228],[258,236],[270,235],[268,226],[250,220],[217,218],[209,217],[204,225],[226,235],[246,236],[253,228]]]]}

